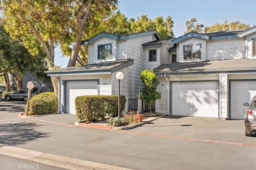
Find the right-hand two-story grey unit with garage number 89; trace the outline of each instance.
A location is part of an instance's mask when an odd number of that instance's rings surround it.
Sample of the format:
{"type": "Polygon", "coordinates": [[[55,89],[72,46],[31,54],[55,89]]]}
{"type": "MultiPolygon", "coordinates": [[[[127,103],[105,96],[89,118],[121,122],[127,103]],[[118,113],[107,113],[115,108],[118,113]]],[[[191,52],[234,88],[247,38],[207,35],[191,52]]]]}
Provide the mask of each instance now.
{"type": "Polygon", "coordinates": [[[162,98],[156,112],[244,119],[256,95],[256,26],[186,33],[174,40],[169,64],[154,69],[162,98]]]}

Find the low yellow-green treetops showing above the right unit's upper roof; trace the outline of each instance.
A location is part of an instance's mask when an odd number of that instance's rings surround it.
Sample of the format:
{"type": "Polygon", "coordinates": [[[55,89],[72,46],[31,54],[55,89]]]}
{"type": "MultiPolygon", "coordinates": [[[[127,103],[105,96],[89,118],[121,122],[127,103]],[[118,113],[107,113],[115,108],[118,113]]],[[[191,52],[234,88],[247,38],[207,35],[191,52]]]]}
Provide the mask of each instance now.
{"type": "Polygon", "coordinates": [[[239,29],[239,28],[249,27],[249,24],[240,23],[240,21],[232,21],[232,22],[228,23],[228,20],[225,20],[223,23],[215,23],[214,25],[206,26],[204,28],[204,31],[205,32],[221,31],[223,28],[224,28],[224,30],[228,30],[229,25],[231,25],[231,29],[239,29]]]}

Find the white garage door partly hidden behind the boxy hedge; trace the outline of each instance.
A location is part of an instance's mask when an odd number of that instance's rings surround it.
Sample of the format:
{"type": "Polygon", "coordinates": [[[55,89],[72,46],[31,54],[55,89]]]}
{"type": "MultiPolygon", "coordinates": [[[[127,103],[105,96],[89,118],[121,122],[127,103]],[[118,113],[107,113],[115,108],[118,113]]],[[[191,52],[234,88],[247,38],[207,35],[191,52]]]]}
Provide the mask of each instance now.
{"type": "Polygon", "coordinates": [[[76,114],[75,99],[77,96],[98,95],[98,82],[66,82],[66,113],[76,114]]]}

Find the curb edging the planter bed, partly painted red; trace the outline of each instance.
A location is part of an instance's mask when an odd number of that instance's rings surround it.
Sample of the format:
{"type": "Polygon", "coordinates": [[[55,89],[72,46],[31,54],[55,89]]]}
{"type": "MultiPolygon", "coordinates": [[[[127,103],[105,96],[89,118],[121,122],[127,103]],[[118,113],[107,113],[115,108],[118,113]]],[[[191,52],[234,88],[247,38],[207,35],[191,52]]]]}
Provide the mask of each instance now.
{"type": "Polygon", "coordinates": [[[144,121],[142,121],[142,122],[135,123],[135,124],[128,125],[128,126],[121,126],[121,127],[113,127],[113,126],[109,126],[109,125],[98,125],[97,123],[89,123],[89,124],[80,123],[82,121],[76,121],[74,124],[76,126],[81,126],[81,127],[91,127],[91,128],[97,128],[97,129],[106,129],[106,130],[120,131],[120,130],[128,130],[128,129],[133,129],[133,128],[142,126],[142,125],[144,125],[146,123],[154,121],[154,120],[156,120],[156,119],[158,119],[160,117],[163,117],[163,116],[165,116],[165,115],[161,115],[159,117],[149,117],[147,119],[144,119],[144,121]]]}

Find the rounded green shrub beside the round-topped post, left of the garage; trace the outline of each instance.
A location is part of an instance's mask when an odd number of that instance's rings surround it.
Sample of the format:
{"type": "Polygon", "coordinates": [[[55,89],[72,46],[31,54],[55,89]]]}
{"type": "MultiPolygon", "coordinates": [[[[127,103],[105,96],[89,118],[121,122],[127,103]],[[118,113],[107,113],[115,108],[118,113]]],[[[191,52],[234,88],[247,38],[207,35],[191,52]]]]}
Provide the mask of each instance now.
{"type": "Polygon", "coordinates": [[[58,96],[45,92],[31,98],[28,115],[54,114],[58,111],[58,96]]]}

